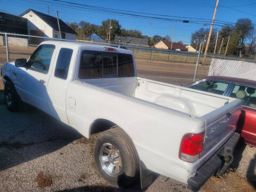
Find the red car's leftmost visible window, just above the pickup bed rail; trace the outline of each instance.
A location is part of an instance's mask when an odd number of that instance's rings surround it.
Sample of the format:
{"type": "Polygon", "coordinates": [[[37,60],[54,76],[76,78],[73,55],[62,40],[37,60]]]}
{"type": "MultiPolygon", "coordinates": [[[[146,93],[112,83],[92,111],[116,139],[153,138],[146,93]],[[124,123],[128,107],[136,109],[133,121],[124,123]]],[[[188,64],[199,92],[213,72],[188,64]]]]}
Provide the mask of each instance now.
{"type": "Polygon", "coordinates": [[[195,85],[192,85],[189,88],[223,95],[224,92],[227,90],[228,85],[229,83],[217,81],[203,81],[195,85]]]}

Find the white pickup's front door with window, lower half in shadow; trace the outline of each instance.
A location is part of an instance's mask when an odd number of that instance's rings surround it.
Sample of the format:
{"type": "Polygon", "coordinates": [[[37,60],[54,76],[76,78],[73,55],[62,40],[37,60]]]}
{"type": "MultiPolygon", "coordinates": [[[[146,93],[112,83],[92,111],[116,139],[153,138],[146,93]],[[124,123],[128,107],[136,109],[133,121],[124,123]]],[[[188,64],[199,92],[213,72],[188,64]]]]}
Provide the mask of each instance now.
{"type": "Polygon", "coordinates": [[[51,76],[54,61],[55,45],[42,44],[28,60],[29,68],[22,68],[20,78],[22,100],[46,113],[49,113],[50,97],[47,93],[47,84],[51,76]]]}

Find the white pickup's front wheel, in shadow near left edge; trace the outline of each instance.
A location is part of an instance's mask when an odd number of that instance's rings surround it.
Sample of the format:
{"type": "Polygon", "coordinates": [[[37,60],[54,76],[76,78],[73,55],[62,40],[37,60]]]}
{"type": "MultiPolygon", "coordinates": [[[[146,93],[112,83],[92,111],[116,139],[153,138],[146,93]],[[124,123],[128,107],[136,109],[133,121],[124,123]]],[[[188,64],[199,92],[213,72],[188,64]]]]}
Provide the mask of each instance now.
{"type": "Polygon", "coordinates": [[[19,106],[19,96],[12,82],[7,81],[4,85],[5,106],[10,111],[17,111],[19,106]]]}

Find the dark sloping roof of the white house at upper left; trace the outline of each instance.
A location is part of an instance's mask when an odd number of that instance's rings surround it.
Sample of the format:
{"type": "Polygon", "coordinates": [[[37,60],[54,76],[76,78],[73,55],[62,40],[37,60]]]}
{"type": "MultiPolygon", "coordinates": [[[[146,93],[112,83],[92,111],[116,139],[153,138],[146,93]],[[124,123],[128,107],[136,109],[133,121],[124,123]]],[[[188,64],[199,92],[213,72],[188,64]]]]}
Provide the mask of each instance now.
{"type": "MultiPolygon", "coordinates": [[[[59,31],[58,27],[58,21],[57,18],[52,17],[51,15],[47,15],[38,11],[35,11],[33,9],[28,9],[27,11],[23,12],[20,14],[22,17],[23,15],[27,14],[28,12],[33,11],[39,18],[41,18],[44,22],[46,22],[50,27],[52,27],[54,30],[59,31]]],[[[71,29],[65,22],[63,22],[61,19],[59,19],[60,23],[60,31],[61,32],[66,32],[70,34],[76,34],[76,32],[71,29]]]]}

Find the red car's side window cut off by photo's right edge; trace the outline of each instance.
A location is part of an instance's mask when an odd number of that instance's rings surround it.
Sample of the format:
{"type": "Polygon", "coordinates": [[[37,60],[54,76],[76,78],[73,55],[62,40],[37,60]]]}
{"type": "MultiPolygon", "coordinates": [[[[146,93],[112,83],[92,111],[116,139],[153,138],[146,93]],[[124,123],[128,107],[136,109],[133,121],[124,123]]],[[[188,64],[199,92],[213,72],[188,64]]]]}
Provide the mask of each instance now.
{"type": "Polygon", "coordinates": [[[235,85],[229,97],[241,99],[244,106],[256,108],[256,87],[235,85]]]}

